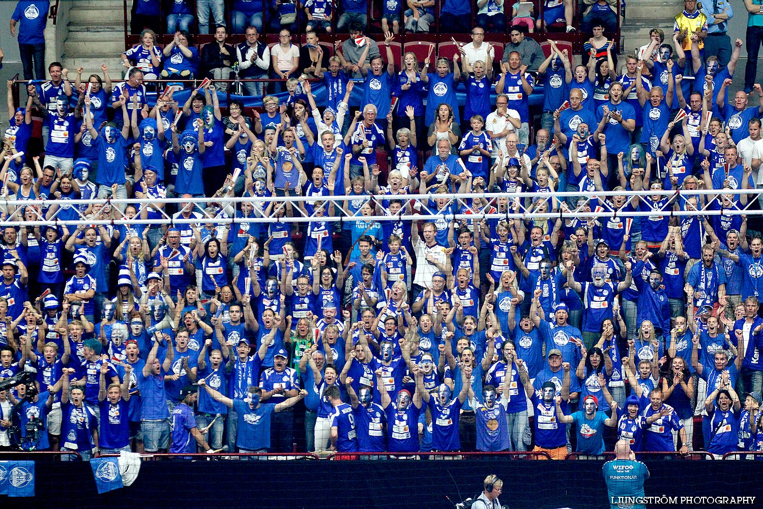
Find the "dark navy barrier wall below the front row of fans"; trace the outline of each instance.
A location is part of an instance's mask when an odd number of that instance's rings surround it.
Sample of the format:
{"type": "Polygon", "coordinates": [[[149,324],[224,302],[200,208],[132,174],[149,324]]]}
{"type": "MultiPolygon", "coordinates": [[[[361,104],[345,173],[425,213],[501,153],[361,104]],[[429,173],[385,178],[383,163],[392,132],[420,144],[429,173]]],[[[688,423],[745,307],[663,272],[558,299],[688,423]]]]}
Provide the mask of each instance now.
{"type": "MultiPolygon", "coordinates": [[[[474,497],[482,480],[504,480],[501,503],[512,509],[609,507],[601,475],[604,462],[481,459],[460,461],[148,461],[137,481],[104,495],[95,491],[87,463],[38,461],[37,496],[15,498],[12,507],[108,507],[190,509],[288,507],[427,509],[452,507],[474,497]]],[[[763,462],[646,461],[646,495],[756,497],[763,507],[763,462]]],[[[691,504],[649,507],[711,507],[691,504]]],[[[716,506],[717,507],[717,506],[716,506]]]]}

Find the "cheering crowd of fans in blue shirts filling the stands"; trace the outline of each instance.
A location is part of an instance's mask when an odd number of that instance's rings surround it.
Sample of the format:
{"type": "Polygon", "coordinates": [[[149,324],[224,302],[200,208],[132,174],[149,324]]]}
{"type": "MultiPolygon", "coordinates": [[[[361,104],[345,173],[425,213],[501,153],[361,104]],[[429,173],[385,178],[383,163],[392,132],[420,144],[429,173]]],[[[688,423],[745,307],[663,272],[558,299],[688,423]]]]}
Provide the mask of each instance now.
{"type": "MultiPolygon", "coordinates": [[[[14,15],[20,44],[34,3],[14,15]]],[[[379,44],[363,35],[365,7],[353,7],[365,3],[342,2],[350,38],[331,58],[315,31],[301,49],[291,43],[286,2],[271,49],[258,42],[268,17],[236,14],[256,2],[233,2],[234,26],[248,26],[246,42],[229,46],[220,3],[196,1],[201,31],[203,6],[218,24],[204,70],[184,67],[198,56],[186,9],[172,11],[180,31],[163,50],[146,30],[124,53],[124,82],[107,65],[83,80],[51,63],[21,108],[8,82],[0,377],[36,381],[0,392],[0,446],[84,459],[224,445],[291,453],[295,443],[365,457],[529,449],[562,459],[618,439],[635,451],[763,450],[763,241],[739,212],[758,208],[743,190],[763,183],[763,90],[750,85],[759,106],[745,91],[729,101],[742,41],[728,41],[727,62],[707,52],[710,21],[697,21],[694,0],[672,36],[655,29],[622,69],[604,16],[590,21],[577,66],[552,39],[546,56],[525,37],[531,19],[512,21],[502,58],[475,26],[454,54],[406,53],[398,69],[394,31],[422,27],[433,2],[410,0],[405,18],[398,5],[379,44]],[[224,116],[215,79],[234,54],[240,69],[275,72],[285,100],[266,95],[251,116],[230,101],[224,116]],[[150,79],[198,72],[212,79],[184,104],[161,87],[148,104],[150,79]],[[355,87],[359,111],[348,107],[355,87]],[[630,193],[644,189],[655,194],[630,193]],[[579,194],[549,194],[565,190],[579,194]],[[609,190],[622,194],[597,198],[609,190]],[[524,191],[535,194],[514,195],[524,191]],[[431,198],[404,198],[416,193],[431,198]],[[140,202],[93,203],[110,197],[140,202]],[[37,198],[67,202],[24,204],[37,198]],[[279,221],[298,215],[309,219],[279,221]],[[388,219],[335,221],[348,215],[388,219]],[[80,217],[99,222],[34,225],[80,217]],[[124,217],[148,222],[108,224],[124,217]]],[[[567,2],[547,3],[566,15],[567,2]]],[[[313,28],[327,28],[315,21],[330,5],[304,5],[313,28]]],[[[504,5],[478,8],[490,17],[504,5]]],[[[457,23],[445,14],[441,30],[457,23]]]]}

